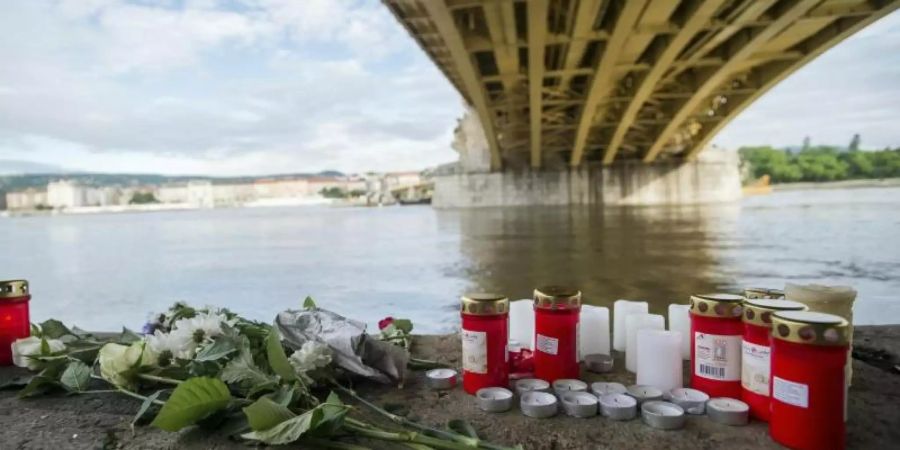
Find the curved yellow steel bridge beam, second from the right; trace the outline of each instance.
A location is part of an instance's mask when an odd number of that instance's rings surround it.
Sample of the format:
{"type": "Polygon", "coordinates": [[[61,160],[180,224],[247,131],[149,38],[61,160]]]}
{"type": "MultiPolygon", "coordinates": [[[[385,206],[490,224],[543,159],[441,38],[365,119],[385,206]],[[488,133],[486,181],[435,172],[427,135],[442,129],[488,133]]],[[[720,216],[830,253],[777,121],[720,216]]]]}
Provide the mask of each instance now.
{"type": "Polygon", "coordinates": [[[810,9],[815,7],[819,0],[798,0],[787,6],[778,17],[773,20],[771,25],[761,30],[750,32],[750,37],[739,48],[730,52],[728,60],[718,70],[712,71],[700,81],[699,85],[694,89],[694,95],[684,102],[675,105],[672,121],[669,122],[653,139],[653,145],[647,150],[643,157],[645,163],[653,162],[663,147],[675,135],[690,115],[704,102],[713,91],[718,88],[728,77],[733,75],[736,67],[740,66],[744,60],[751,57],[754,52],[763,47],[766,42],[776,36],[787,26],[794,23],[800,17],[803,17],[810,9]]]}

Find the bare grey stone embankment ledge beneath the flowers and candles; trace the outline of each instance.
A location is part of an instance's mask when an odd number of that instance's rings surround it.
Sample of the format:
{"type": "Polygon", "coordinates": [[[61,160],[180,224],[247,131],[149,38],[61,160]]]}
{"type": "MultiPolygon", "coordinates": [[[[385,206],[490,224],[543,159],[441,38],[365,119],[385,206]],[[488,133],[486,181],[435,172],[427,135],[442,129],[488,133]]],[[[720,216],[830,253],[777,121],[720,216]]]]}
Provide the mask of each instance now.
{"type": "MultiPolygon", "coordinates": [[[[850,388],[848,448],[893,448],[900,442],[900,325],[860,326],[855,331],[853,386],[850,388]]],[[[459,363],[456,336],[417,336],[413,353],[453,365],[459,363]]],[[[634,376],[623,369],[608,375],[585,374],[586,381],[610,380],[624,384],[634,376]]],[[[685,376],[688,374],[685,364],[685,376]]],[[[18,368],[0,368],[0,384],[21,376],[18,368]]],[[[422,373],[413,373],[403,389],[357,386],[367,398],[394,404],[411,419],[445,426],[456,418],[471,422],[482,437],[498,443],[520,443],[526,449],[661,448],[661,449],[768,449],[780,448],[769,439],[766,425],[751,422],[729,427],[705,416],[690,417],[678,431],[660,431],[639,419],[612,422],[604,418],[574,419],[557,416],[531,419],[517,408],[503,414],[481,412],[461,388],[429,391],[422,373]]],[[[687,378],[685,378],[687,380],[687,378]]],[[[3,449],[246,449],[222,435],[192,429],[165,433],[149,427],[129,426],[140,402],[114,394],[85,397],[62,395],[29,400],[14,391],[0,392],[0,447],[3,449]]],[[[368,443],[365,443],[368,444],[368,443]]]]}

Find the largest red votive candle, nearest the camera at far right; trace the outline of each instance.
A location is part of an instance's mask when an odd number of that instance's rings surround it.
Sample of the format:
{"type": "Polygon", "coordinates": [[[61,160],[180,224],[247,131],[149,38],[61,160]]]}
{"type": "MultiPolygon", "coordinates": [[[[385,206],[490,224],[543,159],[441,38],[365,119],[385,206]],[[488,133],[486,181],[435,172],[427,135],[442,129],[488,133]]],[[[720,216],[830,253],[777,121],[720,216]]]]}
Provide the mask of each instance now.
{"type": "Polygon", "coordinates": [[[772,314],[769,434],[799,450],[846,445],[846,372],[850,324],[811,311],[772,314]]]}

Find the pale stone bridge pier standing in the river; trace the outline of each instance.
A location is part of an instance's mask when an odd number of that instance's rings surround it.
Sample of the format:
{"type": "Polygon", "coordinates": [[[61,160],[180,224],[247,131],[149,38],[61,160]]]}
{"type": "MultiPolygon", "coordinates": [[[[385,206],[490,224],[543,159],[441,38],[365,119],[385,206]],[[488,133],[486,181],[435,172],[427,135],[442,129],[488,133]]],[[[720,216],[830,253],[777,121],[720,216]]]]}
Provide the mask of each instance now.
{"type": "Polygon", "coordinates": [[[589,164],[559,170],[464,173],[435,177],[432,205],[688,205],[740,199],[737,155],[710,151],[689,162],[589,164]]]}

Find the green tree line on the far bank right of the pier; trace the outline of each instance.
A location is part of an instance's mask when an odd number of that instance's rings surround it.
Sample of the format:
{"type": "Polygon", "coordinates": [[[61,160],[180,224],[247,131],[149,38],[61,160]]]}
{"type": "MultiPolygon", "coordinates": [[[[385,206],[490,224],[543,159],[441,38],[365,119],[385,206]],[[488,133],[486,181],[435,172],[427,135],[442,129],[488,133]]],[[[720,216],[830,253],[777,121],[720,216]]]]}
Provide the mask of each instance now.
{"type": "Polygon", "coordinates": [[[773,183],[839,181],[900,177],[900,148],[841,151],[837,147],[804,146],[798,153],[772,147],[742,147],[741,162],[750,175],[769,175],[773,183]]]}

